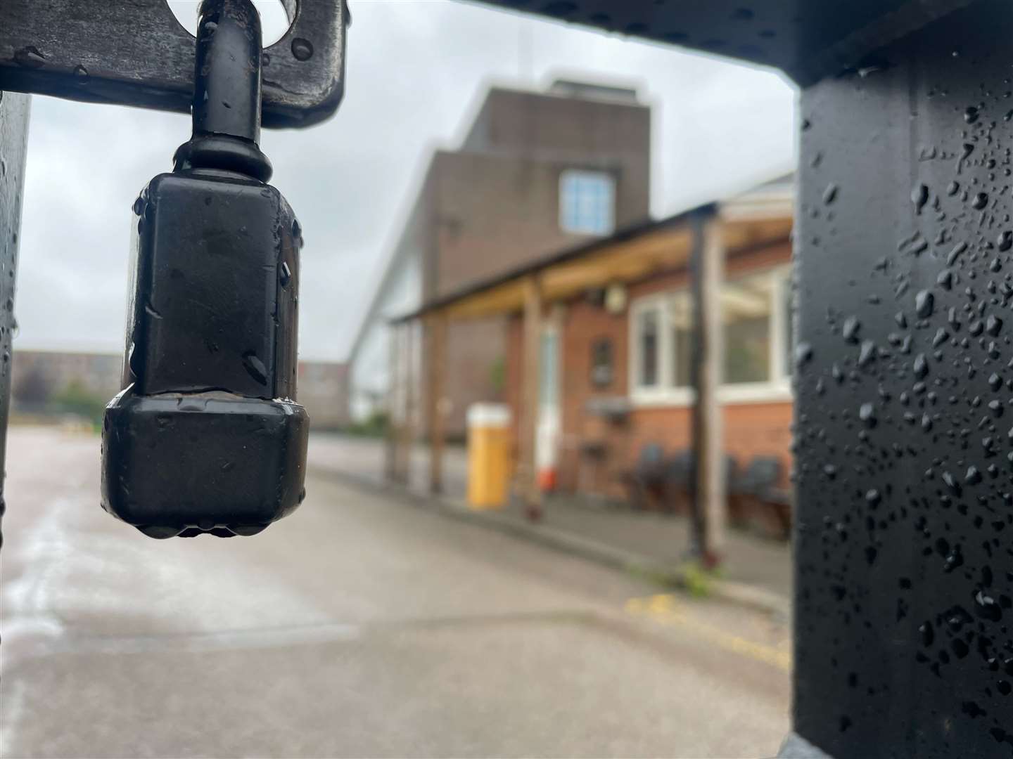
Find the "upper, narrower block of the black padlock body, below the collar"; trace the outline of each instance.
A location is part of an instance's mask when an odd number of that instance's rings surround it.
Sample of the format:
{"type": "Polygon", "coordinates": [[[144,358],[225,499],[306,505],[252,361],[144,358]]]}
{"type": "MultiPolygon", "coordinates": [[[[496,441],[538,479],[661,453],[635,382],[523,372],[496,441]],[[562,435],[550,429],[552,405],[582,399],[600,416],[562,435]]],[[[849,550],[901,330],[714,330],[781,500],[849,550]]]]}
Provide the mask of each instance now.
{"type": "Polygon", "coordinates": [[[295,398],[298,223],[270,185],[161,174],[138,204],[124,387],[295,398]]]}

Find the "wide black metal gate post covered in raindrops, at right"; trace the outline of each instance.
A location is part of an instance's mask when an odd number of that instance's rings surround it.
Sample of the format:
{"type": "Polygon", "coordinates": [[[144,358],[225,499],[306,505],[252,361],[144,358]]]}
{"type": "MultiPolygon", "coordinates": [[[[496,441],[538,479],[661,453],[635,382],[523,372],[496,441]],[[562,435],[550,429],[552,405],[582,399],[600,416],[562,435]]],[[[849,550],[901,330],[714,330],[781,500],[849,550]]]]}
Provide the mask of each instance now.
{"type": "Polygon", "coordinates": [[[801,96],[794,726],[836,757],[1013,752],[1011,38],[981,0],[801,96]]]}

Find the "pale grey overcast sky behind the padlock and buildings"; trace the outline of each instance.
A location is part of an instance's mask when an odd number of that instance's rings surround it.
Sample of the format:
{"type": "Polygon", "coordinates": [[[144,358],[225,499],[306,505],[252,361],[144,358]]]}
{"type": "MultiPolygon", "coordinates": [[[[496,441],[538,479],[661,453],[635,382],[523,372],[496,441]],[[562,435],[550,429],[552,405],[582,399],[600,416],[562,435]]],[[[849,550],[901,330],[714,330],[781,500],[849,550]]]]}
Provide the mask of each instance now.
{"type": "MultiPolygon", "coordinates": [[[[305,232],[303,358],[345,357],[431,152],[457,146],[491,83],[636,86],[654,216],[792,166],[795,93],[777,74],[462,2],[349,5],[337,114],[262,140],[305,232]]],[[[15,347],[122,348],[131,204],[188,134],[181,115],[33,98],[15,347]]]]}

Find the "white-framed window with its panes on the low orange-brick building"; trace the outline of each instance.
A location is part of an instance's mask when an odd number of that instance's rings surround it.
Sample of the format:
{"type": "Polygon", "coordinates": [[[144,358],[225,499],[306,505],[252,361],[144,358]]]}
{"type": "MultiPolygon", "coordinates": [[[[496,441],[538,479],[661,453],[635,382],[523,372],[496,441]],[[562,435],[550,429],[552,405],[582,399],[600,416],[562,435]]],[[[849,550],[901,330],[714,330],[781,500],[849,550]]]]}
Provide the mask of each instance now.
{"type": "MultiPolygon", "coordinates": [[[[790,397],[788,267],[726,281],[720,309],[721,400],[745,403],[790,397]]],[[[646,296],[630,305],[630,392],[635,401],[683,404],[692,399],[692,327],[693,302],[688,290],[646,296]]]]}

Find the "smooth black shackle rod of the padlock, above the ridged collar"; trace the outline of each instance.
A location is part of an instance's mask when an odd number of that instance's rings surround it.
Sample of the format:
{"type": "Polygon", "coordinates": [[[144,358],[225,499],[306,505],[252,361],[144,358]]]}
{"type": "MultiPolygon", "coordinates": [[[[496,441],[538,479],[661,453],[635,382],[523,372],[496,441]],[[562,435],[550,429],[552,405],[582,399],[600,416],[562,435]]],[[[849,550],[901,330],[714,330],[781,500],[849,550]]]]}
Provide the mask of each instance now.
{"type": "Polygon", "coordinates": [[[193,134],[260,142],[260,16],[250,0],[204,0],[193,64],[193,134]]]}

